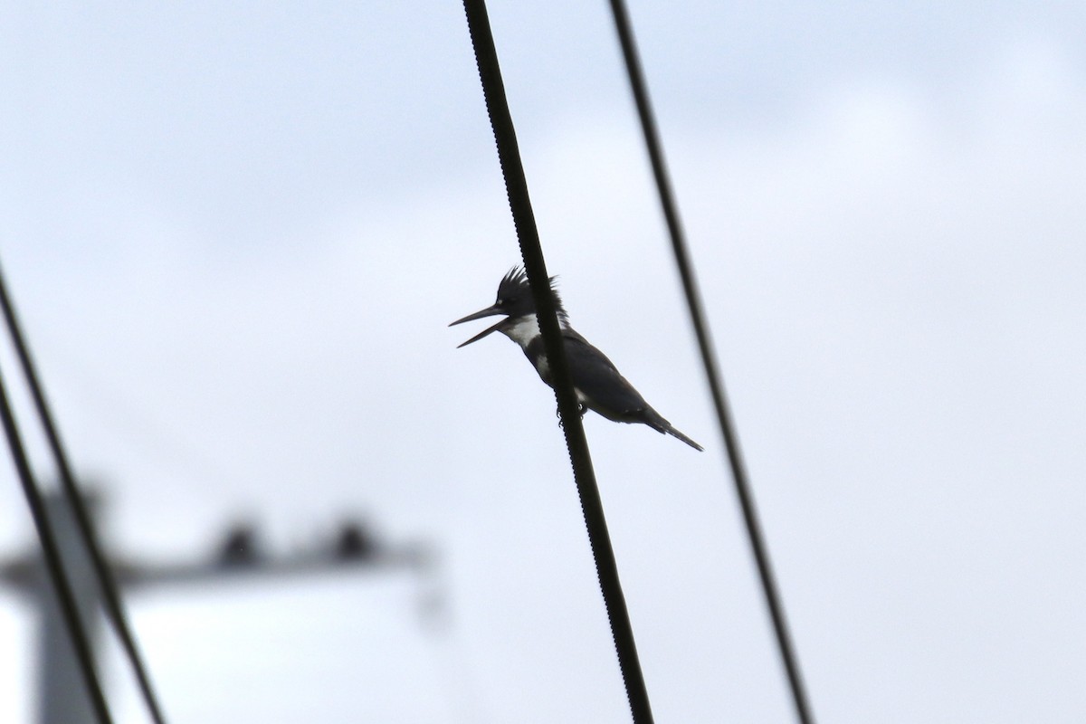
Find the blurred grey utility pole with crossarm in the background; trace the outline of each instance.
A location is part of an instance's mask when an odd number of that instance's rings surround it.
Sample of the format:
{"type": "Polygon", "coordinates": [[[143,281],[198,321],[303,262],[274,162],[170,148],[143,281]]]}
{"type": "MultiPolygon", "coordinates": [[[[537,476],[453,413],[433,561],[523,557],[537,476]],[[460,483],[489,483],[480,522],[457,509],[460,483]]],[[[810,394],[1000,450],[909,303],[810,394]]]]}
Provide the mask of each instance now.
{"type": "MultiPolygon", "coordinates": [[[[102,506],[100,496],[90,494],[85,498],[91,519],[97,521],[102,506]]],[[[74,513],[67,499],[59,493],[47,495],[46,508],[79,615],[91,646],[97,648],[101,640],[101,594],[74,513]]],[[[270,579],[329,571],[358,572],[363,567],[366,570],[407,567],[425,575],[429,572],[431,558],[421,544],[388,548],[355,522],[344,523],[338,535],[331,536],[318,549],[273,557],[261,548],[252,528],[237,525],[227,531],[218,555],[210,560],[144,564],[112,559],[110,568],[117,586],[125,589],[162,584],[206,584],[239,576],[270,579]]],[[[29,597],[38,613],[38,724],[98,724],[41,556],[33,551],[0,561],[2,583],[29,597]]]]}

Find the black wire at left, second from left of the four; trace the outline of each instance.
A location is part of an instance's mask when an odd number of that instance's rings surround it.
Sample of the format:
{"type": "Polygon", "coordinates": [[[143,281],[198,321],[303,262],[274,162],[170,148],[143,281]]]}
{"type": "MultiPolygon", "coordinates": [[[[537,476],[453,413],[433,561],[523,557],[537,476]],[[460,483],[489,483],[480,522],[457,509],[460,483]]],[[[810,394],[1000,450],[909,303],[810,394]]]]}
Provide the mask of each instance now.
{"type": "Polygon", "coordinates": [[[25,336],[23,335],[22,327],[18,323],[18,317],[15,314],[11,296],[8,293],[8,284],[4,281],[2,268],[0,268],[0,308],[3,310],[4,321],[8,325],[8,331],[11,334],[12,343],[15,346],[15,353],[18,356],[20,365],[23,368],[23,374],[26,377],[26,383],[30,388],[34,406],[37,409],[41,427],[45,429],[46,437],[49,440],[49,447],[52,450],[54,460],[56,461],[56,469],[60,472],[61,478],[61,486],[64,488],[64,494],[67,498],[68,505],[75,513],[76,528],[79,530],[79,536],[83,539],[83,545],[89,554],[94,575],[98,579],[98,585],[102,593],[102,600],[105,604],[105,611],[109,614],[117,637],[121,639],[122,647],[125,650],[125,655],[128,657],[132,671],[136,674],[140,694],[143,697],[143,702],[147,706],[152,720],[155,724],[164,724],[165,720],[162,715],[162,709],[159,706],[157,697],[151,686],[151,679],[148,675],[147,666],[143,663],[143,658],[140,655],[139,647],[132,636],[131,626],[128,624],[128,619],[125,615],[124,606],[121,601],[121,596],[117,593],[116,581],[114,580],[110,566],[105,560],[105,556],[102,554],[102,548],[98,543],[94,528],[91,524],[90,516],[87,512],[87,505],[84,501],[84,496],[75,482],[75,475],[72,473],[72,466],[68,462],[68,456],[64,450],[64,445],[61,443],[60,432],[53,421],[49,404],[46,401],[46,394],[39,381],[37,369],[30,356],[30,351],[26,344],[25,336]]]}

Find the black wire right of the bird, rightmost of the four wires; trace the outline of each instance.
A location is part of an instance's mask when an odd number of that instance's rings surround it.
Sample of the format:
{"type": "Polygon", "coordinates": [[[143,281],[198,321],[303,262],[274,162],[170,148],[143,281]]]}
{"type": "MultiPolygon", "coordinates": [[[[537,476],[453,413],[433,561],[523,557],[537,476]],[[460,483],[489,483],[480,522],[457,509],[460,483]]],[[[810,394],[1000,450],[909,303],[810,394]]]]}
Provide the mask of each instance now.
{"type": "Polygon", "coordinates": [[[679,275],[682,277],[686,304],[690,307],[691,321],[694,325],[694,331],[697,334],[697,344],[702,352],[705,376],[709,383],[709,390],[712,393],[712,403],[717,409],[717,420],[720,423],[724,447],[728,449],[728,460],[732,469],[735,493],[738,495],[740,506],[743,509],[743,520],[746,523],[747,537],[750,539],[750,548],[758,567],[758,575],[761,579],[766,606],[769,608],[770,618],[773,620],[773,631],[776,634],[778,648],[780,649],[781,659],[787,673],[796,716],[804,724],[812,724],[815,719],[811,713],[807,691],[804,687],[799,661],[796,657],[795,647],[792,644],[792,636],[788,633],[788,625],[784,615],[784,605],[781,601],[781,594],[769,559],[769,549],[766,546],[761,523],[758,520],[758,512],[755,508],[746,465],[743,461],[743,455],[740,449],[738,435],[735,431],[735,423],[732,420],[728,398],[724,395],[724,385],[716,356],[712,352],[714,345],[709,336],[709,326],[705,320],[702,296],[698,292],[697,280],[694,277],[690,253],[686,249],[686,238],[682,229],[682,224],[679,220],[679,211],[674,201],[674,194],[671,191],[671,181],[668,177],[667,164],[664,161],[662,144],[660,143],[652,104],[648,100],[648,90],[641,68],[636,45],[634,43],[629,13],[622,0],[610,0],[610,7],[615,16],[615,27],[618,31],[619,42],[622,46],[622,55],[626,59],[630,87],[637,105],[637,115],[641,118],[645,145],[648,149],[648,156],[652,161],[653,176],[656,178],[660,205],[664,208],[664,217],[667,220],[668,231],[671,237],[671,247],[674,252],[675,265],[679,268],[679,275]]]}

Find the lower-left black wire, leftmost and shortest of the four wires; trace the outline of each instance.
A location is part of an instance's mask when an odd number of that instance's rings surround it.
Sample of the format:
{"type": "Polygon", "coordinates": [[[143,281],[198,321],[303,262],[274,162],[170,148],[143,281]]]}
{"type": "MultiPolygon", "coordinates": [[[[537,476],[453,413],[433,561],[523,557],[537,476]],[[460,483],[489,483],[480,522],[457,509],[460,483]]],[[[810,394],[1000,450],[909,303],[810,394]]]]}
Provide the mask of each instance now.
{"type": "Polygon", "coordinates": [[[46,569],[49,571],[49,577],[53,583],[53,590],[56,593],[56,601],[60,605],[61,615],[68,630],[68,639],[72,642],[72,648],[75,650],[79,670],[83,672],[83,679],[87,687],[87,696],[90,699],[91,708],[99,724],[112,724],[113,720],[105,703],[105,696],[102,694],[102,686],[98,681],[98,674],[94,670],[94,655],[90,647],[87,630],[79,618],[75,595],[72,593],[72,586],[68,584],[64,572],[64,563],[56,547],[56,536],[53,532],[53,525],[49,520],[46,505],[41,499],[41,492],[34,481],[34,473],[30,471],[30,463],[26,457],[26,448],[23,447],[15,416],[12,412],[11,405],[8,403],[8,393],[4,389],[2,372],[0,372],[0,418],[3,419],[3,429],[8,437],[8,447],[11,449],[11,458],[18,473],[20,482],[23,484],[23,494],[26,496],[26,504],[30,508],[34,526],[38,531],[38,538],[41,541],[41,552],[46,569]]]}

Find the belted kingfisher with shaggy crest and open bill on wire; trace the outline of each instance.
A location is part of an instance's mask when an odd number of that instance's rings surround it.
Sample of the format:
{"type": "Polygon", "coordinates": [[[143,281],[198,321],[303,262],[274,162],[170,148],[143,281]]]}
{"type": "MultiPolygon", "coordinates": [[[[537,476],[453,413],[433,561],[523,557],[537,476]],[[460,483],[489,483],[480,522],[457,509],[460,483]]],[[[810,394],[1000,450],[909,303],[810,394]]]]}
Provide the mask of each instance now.
{"type": "MultiPolygon", "coordinates": [[[[554,277],[551,278],[551,293],[558,310],[558,325],[566,345],[566,360],[577,401],[581,404],[581,415],[591,409],[615,422],[643,422],[658,432],[678,437],[694,449],[704,449],[654,410],[633,385],[619,374],[604,353],[573,331],[555,289],[554,277]]],[[[457,348],[478,342],[491,332],[501,332],[520,345],[540,378],[553,386],[546,352],[543,350],[543,335],[535,318],[535,301],[532,299],[528,277],[519,267],[509,269],[502,279],[502,283],[497,285],[497,300],[493,305],[457,319],[450,327],[493,315],[506,315],[506,317],[458,345],[457,348]]]]}

